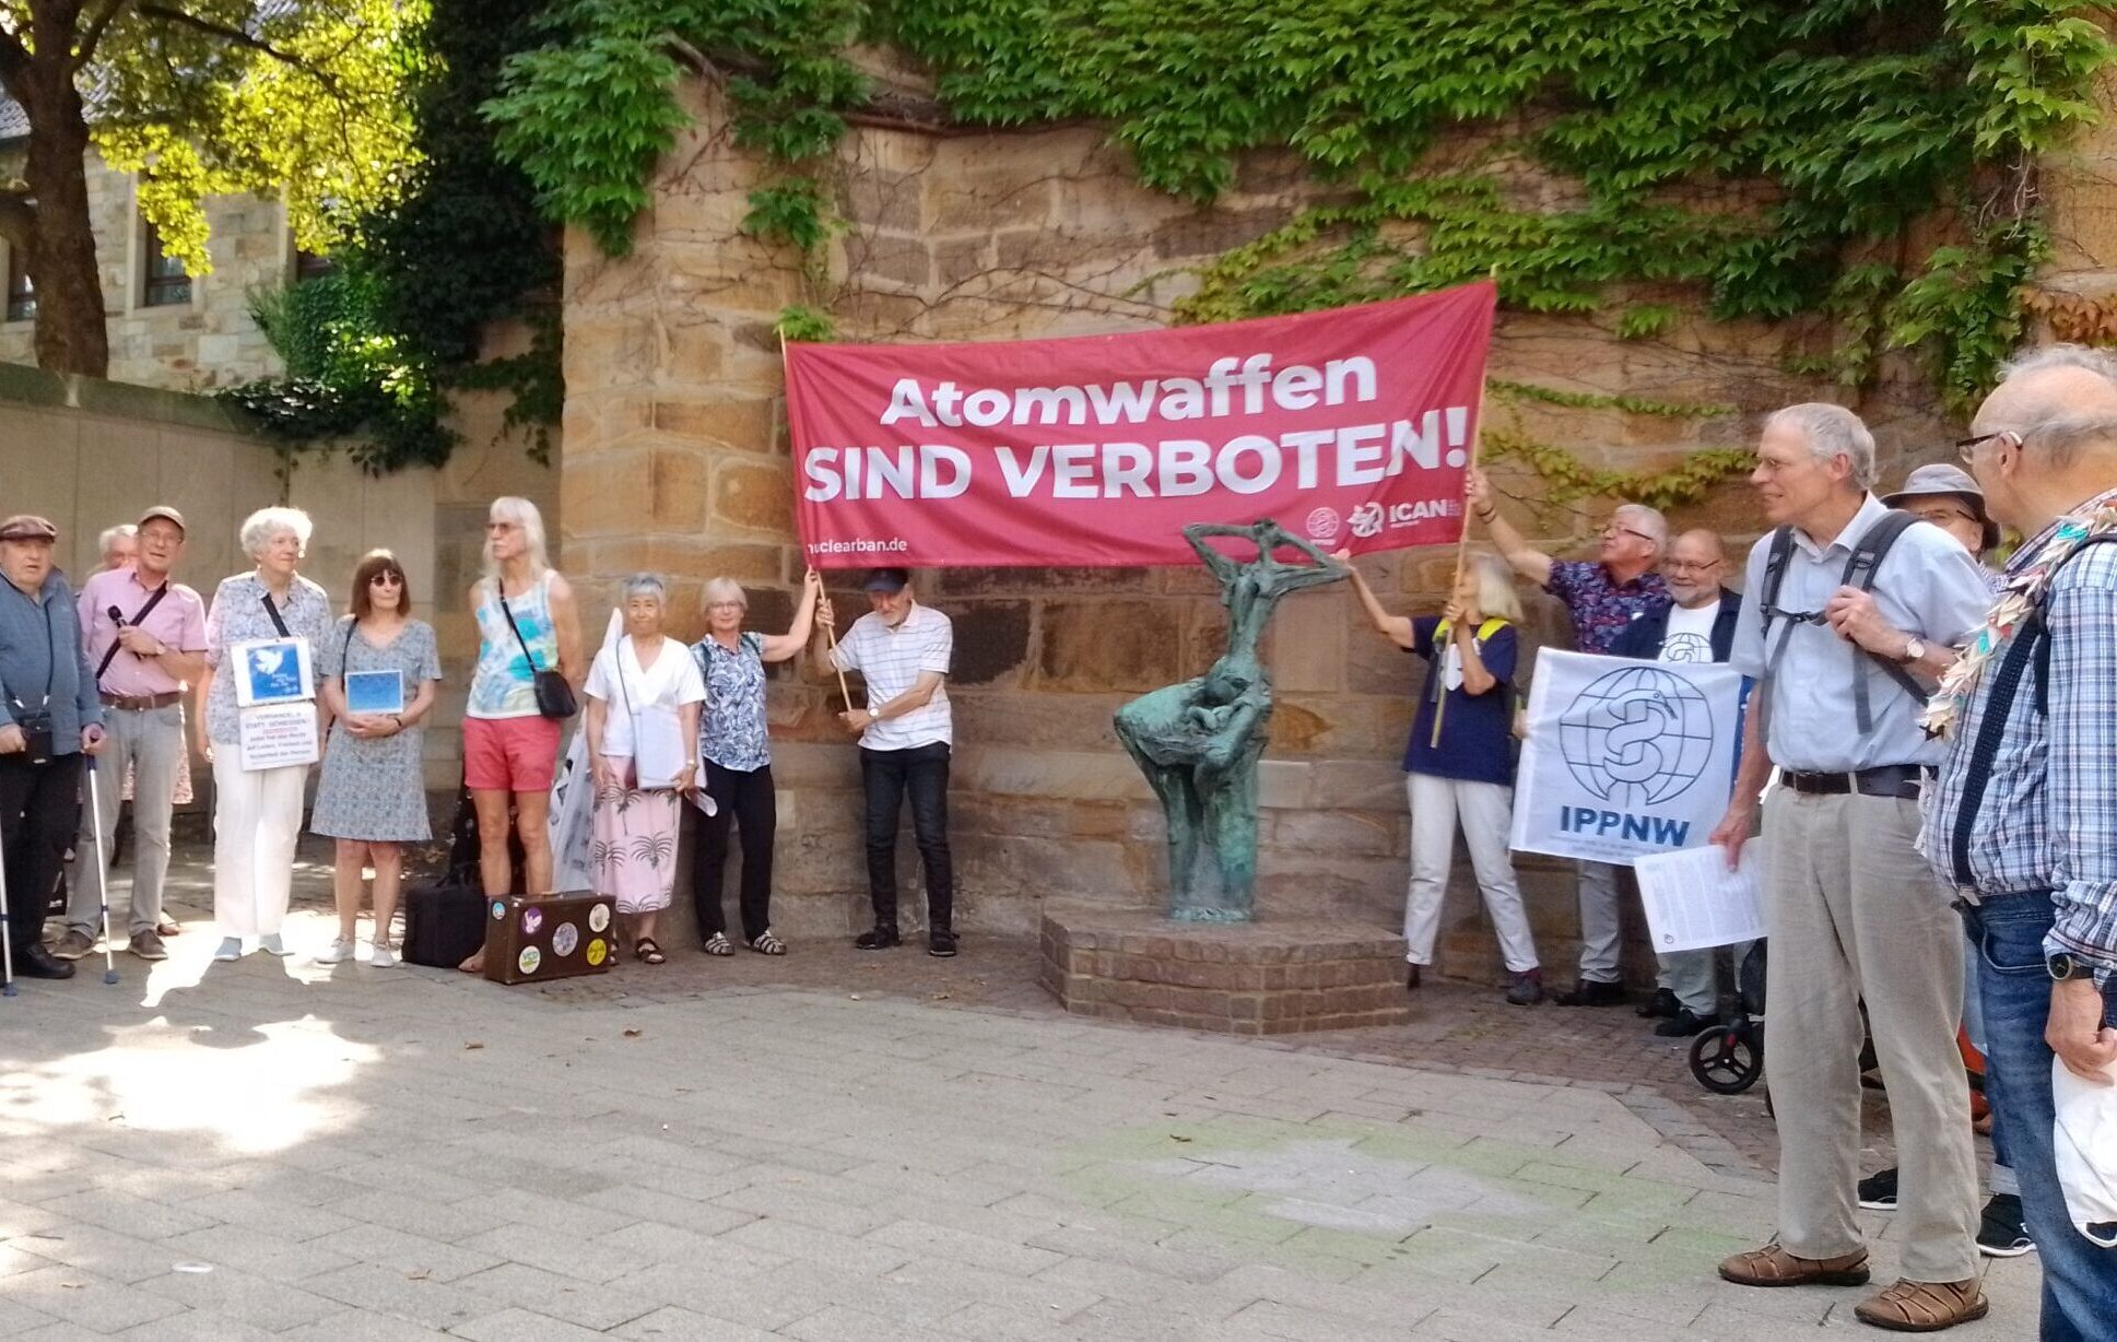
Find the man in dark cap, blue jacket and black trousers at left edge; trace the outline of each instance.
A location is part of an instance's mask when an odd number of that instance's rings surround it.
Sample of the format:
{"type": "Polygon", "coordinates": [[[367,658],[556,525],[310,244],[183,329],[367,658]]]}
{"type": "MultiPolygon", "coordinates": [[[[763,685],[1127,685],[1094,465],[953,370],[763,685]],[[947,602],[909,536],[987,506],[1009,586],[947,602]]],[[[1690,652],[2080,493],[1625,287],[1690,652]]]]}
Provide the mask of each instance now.
{"type": "Polygon", "coordinates": [[[51,561],[59,529],[0,521],[0,857],[15,974],[72,978],[44,950],[44,895],[80,821],[80,758],[104,745],[74,593],[51,561]]]}

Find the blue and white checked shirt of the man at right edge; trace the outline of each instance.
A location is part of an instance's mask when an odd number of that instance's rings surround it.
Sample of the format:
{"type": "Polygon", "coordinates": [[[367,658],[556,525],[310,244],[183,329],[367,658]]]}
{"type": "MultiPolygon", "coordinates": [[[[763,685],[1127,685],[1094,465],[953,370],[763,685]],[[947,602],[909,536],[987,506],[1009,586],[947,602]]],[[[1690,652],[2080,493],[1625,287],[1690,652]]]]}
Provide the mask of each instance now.
{"type": "MultiPolygon", "coordinates": [[[[2009,578],[2034,563],[2053,529],[2015,550],[2009,578]]],[[[2058,921],[2045,950],[2092,961],[2106,980],[2117,974],[2117,544],[2077,550],[2051,578],[2043,616],[2051,639],[2043,711],[2028,673],[1971,817],[1969,874],[1984,897],[2051,891],[2058,921]]],[[[1933,804],[1926,851],[1950,889],[1967,766],[2001,658],[2005,646],[1950,728],[1933,804]]]]}

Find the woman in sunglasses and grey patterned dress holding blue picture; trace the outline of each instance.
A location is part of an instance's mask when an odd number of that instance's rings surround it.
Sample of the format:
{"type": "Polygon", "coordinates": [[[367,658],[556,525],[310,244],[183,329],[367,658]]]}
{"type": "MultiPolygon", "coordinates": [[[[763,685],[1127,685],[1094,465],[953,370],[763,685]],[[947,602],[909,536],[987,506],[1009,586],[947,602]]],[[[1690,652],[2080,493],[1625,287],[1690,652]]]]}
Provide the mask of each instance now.
{"type": "Polygon", "coordinates": [[[411,584],[390,550],[370,550],[354,572],[354,614],[318,648],[330,743],[309,828],[339,840],[332,893],[339,938],[320,965],[354,959],[362,870],[375,868],[375,938],[368,963],[396,963],[390,923],[404,883],[404,845],[426,842],[419,724],[440,688],[434,629],[411,618],[411,584]],[[396,675],[396,686],[390,677],[396,675]],[[347,694],[349,677],[360,677],[347,694]],[[379,707],[390,705],[390,707],[379,707]]]}

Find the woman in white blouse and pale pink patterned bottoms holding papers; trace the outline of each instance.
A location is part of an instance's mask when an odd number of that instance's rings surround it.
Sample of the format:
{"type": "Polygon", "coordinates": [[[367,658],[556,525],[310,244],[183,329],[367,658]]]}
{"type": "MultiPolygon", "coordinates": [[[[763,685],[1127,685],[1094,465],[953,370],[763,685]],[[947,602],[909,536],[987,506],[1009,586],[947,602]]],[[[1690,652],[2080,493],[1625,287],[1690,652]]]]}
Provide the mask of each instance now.
{"type": "Polygon", "coordinates": [[[667,957],[654,919],[675,885],[677,796],[699,781],[699,705],[705,679],[686,648],[663,637],[669,591],[641,574],[625,582],[625,635],[589,667],[589,770],[595,777],[595,893],[618,902],[618,940],[648,965],[667,957]]]}

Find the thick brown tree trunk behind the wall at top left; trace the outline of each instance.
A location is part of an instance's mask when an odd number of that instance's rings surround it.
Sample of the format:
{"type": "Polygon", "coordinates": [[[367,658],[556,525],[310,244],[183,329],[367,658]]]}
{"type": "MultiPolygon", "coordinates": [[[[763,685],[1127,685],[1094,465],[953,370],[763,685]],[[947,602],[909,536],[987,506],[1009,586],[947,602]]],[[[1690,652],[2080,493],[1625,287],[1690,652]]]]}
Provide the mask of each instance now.
{"type": "MultiPolygon", "coordinates": [[[[64,47],[59,49],[66,51],[64,47]]],[[[110,375],[104,286],[89,220],[89,121],[64,61],[36,61],[30,161],[23,180],[36,199],[30,282],[36,286],[36,364],[51,373],[110,375]]],[[[123,248],[123,239],[116,239],[123,248]]]]}

